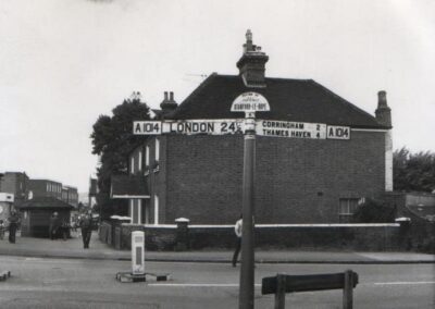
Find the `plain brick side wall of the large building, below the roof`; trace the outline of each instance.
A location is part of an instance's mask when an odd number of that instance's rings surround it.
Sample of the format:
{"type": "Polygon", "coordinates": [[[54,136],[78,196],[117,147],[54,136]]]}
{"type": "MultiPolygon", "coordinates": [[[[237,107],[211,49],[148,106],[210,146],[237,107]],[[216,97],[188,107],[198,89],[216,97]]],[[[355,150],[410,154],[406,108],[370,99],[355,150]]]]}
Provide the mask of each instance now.
{"type": "MultiPolygon", "coordinates": [[[[356,131],[350,140],[258,137],[257,223],[338,222],[339,198],[384,191],[384,138],[356,131]]],[[[160,196],[161,222],[233,224],[241,212],[243,136],[160,139],[165,157],[151,191],[160,196]]]]}

